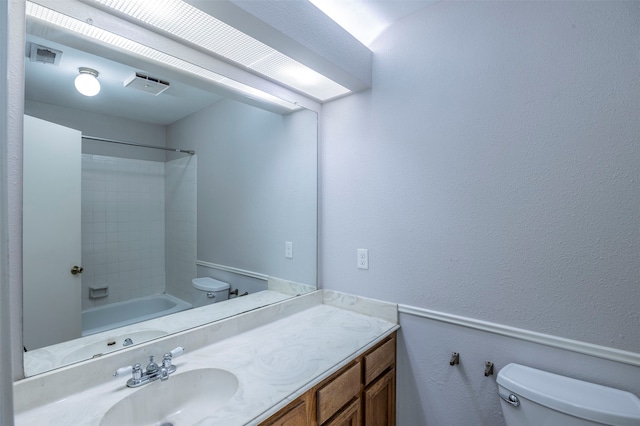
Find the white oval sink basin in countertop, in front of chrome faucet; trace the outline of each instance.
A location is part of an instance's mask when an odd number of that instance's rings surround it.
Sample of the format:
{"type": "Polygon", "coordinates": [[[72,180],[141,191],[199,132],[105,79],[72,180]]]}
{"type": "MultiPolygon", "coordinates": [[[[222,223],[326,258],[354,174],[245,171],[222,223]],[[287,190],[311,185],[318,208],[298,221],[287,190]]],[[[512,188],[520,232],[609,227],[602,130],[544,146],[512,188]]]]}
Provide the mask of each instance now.
{"type": "Polygon", "coordinates": [[[176,372],[169,380],[141,386],[114,404],[100,426],[192,425],[223,406],[238,390],[238,378],[226,370],[202,368],[176,372]]]}

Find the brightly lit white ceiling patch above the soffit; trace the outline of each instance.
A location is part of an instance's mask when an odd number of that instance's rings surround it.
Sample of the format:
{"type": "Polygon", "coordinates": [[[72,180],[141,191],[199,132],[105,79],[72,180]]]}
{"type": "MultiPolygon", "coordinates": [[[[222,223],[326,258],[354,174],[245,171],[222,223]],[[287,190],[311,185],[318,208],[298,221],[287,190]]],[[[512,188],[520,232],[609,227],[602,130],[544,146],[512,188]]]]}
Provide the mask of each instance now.
{"type": "Polygon", "coordinates": [[[365,46],[389,25],[440,0],[309,0],[365,46]]]}

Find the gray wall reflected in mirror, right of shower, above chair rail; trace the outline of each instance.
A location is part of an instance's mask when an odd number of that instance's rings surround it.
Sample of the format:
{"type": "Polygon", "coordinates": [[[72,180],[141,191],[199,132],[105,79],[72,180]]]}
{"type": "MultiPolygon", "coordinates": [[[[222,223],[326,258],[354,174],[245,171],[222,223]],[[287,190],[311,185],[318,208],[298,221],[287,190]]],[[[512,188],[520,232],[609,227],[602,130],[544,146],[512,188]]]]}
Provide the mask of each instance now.
{"type": "Polygon", "coordinates": [[[168,126],[198,155],[199,260],[315,284],[316,123],[224,100],[168,126]]]}

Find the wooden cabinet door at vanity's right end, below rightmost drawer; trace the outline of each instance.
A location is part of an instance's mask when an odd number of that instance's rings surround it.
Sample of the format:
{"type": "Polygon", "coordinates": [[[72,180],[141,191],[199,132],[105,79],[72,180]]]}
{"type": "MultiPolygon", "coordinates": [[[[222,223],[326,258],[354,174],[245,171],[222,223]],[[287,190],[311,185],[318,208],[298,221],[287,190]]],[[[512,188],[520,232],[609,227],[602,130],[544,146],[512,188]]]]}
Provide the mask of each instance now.
{"type": "Polygon", "coordinates": [[[365,426],[395,426],[395,368],[364,390],[365,426]]]}

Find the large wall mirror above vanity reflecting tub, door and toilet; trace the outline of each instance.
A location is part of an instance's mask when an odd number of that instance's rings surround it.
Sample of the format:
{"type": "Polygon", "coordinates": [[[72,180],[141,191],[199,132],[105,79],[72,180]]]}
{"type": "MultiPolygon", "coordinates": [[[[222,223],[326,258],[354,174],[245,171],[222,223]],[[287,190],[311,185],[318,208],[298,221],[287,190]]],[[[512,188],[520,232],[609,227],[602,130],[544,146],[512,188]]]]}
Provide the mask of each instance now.
{"type": "Polygon", "coordinates": [[[312,291],[316,259],[316,112],[27,18],[26,376],[312,291]]]}

